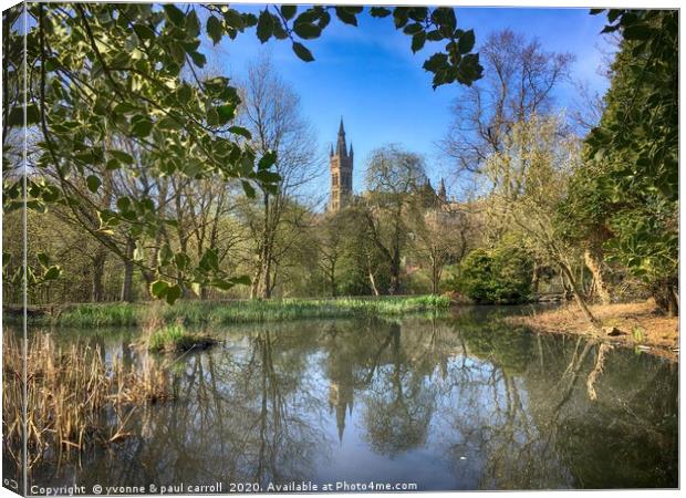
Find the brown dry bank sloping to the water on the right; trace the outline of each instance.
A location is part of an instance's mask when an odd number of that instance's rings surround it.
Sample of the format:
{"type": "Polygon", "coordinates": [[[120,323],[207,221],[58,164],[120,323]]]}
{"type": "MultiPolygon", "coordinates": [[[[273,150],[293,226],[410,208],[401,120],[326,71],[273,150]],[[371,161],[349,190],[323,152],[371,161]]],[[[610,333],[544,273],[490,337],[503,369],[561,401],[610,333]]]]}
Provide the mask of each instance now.
{"type": "Polygon", "coordinates": [[[508,320],[541,332],[588,334],[627,346],[649,347],[653,353],[673,359],[678,356],[678,318],[661,313],[653,300],[590,308],[603,328],[616,328],[622,333],[607,338],[594,332],[575,303],[508,320]]]}

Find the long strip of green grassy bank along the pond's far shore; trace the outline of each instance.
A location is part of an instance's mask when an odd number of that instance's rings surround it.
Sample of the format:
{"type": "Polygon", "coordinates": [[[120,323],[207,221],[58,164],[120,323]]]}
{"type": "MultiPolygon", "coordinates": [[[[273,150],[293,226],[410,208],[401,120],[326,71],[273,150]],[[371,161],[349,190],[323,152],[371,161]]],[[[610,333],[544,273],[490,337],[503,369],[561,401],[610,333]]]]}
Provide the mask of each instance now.
{"type": "Polygon", "coordinates": [[[72,304],[52,313],[31,313],[32,324],[64,326],[143,325],[150,320],[184,324],[281,322],[300,319],[335,319],[355,315],[402,315],[447,310],[446,297],[383,297],[340,299],[284,299],[266,301],[179,301],[163,303],[72,304]]]}

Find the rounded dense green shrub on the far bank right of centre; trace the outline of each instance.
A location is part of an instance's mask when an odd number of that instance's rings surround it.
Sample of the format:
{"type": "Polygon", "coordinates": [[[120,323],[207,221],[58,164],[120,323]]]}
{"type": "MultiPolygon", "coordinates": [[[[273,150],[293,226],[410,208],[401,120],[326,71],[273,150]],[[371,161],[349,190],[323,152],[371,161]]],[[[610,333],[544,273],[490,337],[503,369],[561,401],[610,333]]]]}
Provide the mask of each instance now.
{"type": "Polygon", "coordinates": [[[478,303],[513,304],[531,298],[533,261],[510,243],[475,249],[461,263],[458,290],[478,303]]]}

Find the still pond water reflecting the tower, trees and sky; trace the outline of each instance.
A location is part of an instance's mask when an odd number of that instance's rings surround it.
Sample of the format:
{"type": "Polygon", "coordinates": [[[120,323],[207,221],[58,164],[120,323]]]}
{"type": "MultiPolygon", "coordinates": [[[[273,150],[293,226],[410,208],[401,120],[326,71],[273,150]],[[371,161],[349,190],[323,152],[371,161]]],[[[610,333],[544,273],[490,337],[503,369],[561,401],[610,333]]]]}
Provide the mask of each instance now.
{"type": "MultiPolygon", "coordinates": [[[[589,387],[600,345],[488,310],[211,332],[219,346],[174,359],[176,401],[138,408],[123,443],[34,469],[30,485],[678,486],[678,367],[657,357],[606,349],[589,387]]],[[[60,333],[141,361],[135,331],[60,333]]]]}

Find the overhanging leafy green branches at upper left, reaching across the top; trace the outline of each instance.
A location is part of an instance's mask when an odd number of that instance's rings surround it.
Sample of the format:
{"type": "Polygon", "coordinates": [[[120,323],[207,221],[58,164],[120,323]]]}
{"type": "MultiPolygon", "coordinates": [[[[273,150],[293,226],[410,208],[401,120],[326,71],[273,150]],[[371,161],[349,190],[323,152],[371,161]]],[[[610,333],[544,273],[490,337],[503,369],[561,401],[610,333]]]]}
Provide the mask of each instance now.
{"type": "MultiPolygon", "coordinates": [[[[25,8],[27,66],[21,50],[9,50],[4,60],[3,210],[20,209],[25,201],[38,212],[52,206],[69,212],[122,261],[153,273],[150,293],[170,303],[186,290],[245,283],[246,278],[230,277],[212,263],[214,248],[191,261],[183,248],[169,253],[160,245],[160,230],[178,220],[165,215],[155,188],[114,194],[112,185],[117,177],[145,172],[150,178],[237,183],[248,197],[276,193],[278,157],[256,152],[250,132],[237,124],[241,100],[236,84],[202,75],[201,41],[230,42],[254,29],[260,41],[290,40],[295,55],[312,61],[305,43],[319,38],[334,15],[357,25],[363,8],[269,6],[259,15],[226,4],[25,8]],[[25,92],[24,70],[30,75],[25,92]],[[24,128],[35,137],[25,188],[17,145],[24,128]],[[173,257],[154,257],[163,252],[173,257]]],[[[8,48],[23,46],[21,9],[3,13],[8,48]]],[[[478,55],[471,53],[474,32],[457,28],[453,9],[375,7],[370,14],[392,17],[395,28],[410,37],[414,52],[426,42],[446,42],[445,51],[424,64],[434,74],[434,87],[480,77],[478,55]]]]}

